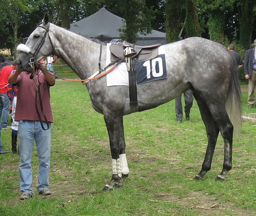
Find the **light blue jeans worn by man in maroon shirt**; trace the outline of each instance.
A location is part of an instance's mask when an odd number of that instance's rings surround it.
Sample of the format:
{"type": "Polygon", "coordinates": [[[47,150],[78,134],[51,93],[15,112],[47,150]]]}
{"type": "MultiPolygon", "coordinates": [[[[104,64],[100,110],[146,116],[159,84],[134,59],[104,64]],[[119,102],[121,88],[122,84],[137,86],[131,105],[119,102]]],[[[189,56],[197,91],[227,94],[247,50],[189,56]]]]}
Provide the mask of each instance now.
{"type": "MultiPolygon", "coordinates": [[[[47,124],[43,122],[44,128],[47,124]]],[[[38,171],[38,192],[49,187],[50,152],[51,152],[51,131],[43,130],[40,121],[19,121],[19,152],[20,152],[20,190],[33,194],[32,190],[32,167],[31,156],[34,141],[39,158],[38,171]]]]}

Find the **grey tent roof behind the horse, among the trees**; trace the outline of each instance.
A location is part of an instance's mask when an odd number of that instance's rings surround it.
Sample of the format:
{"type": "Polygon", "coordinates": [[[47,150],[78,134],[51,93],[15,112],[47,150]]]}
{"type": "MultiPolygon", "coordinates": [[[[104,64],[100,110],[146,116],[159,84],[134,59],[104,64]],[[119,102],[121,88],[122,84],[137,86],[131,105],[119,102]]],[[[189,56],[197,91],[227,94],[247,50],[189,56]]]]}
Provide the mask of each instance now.
{"type": "MultiPolygon", "coordinates": [[[[70,30],[81,35],[97,38],[101,41],[110,41],[119,38],[118,29],[122,27],[122,18],[112,14],[105,8],[100,9],[95,14],[90,15],[76,23],[70,24],[70,30]]],[[[138,34],[138,45],[150,45],[154,43],[166,44],[166,34],[152,30],[151,34],[138,34]]]]}

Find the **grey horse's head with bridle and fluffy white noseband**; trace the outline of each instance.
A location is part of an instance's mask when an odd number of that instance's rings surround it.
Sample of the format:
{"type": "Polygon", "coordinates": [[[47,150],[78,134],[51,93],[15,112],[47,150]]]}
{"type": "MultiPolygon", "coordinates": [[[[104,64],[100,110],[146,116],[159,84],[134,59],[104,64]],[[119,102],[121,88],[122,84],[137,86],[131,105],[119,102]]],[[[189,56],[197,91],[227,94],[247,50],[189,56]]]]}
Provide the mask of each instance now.
{"type": "Polygon", "coordinates": [[[35,61],[39,61],[53,52],[54,48],[49,36],[49,26],[49,15],[45,13],[43,22],[37,25],[26,44],[17,46],[17,51],[19,52],[17,67],[20,71],[31,71],[35,61]]]}

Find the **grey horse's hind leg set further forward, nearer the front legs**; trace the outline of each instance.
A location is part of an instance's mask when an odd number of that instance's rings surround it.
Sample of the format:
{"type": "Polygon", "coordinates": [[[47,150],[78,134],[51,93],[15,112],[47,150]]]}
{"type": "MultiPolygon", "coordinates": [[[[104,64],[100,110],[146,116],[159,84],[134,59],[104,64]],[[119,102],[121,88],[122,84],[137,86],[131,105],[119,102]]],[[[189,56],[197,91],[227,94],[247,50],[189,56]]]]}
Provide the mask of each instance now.
{"type": "Polygon", "coordinates": [[[205,173],[207,173],[207,171],[211,169],[212,157],[213,157],[213,153],[214,153],[217,138],[218,138],[219,128],[218,128],[218,125],[213,120],[212,115],[207,105],[202,100],[202,98],[199,95],[197,95],[197,93],[193,93],[193,95],[198,103],[198,107],[200,109],[200,113],[204,121],[204,125],[206,127],[207,138],[208,138],[208,145],[207,145],[204,162],[202,164],[202,169],[198,173],[198,175],[195,176],[195,179],[204,179],[205,173]]]}

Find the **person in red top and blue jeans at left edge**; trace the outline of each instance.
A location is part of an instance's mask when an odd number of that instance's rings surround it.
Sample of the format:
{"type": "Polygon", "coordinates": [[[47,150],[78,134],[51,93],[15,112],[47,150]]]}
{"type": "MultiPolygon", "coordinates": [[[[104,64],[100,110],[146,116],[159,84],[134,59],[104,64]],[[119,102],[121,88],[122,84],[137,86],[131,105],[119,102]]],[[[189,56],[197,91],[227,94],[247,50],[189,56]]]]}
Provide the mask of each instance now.
{"type": "Polygon", "coordinates": [[[12,65],[5,66],[0,71],[0,118],[2,129],[9,128],[9,126],[7,126],[7,119],[9,115],[8,109],[10,107],[10,100],[7,96],[8,78],[12,71],[16,68],[17,61],[15,60],[14,63],[12,63],[12,65]]]}

